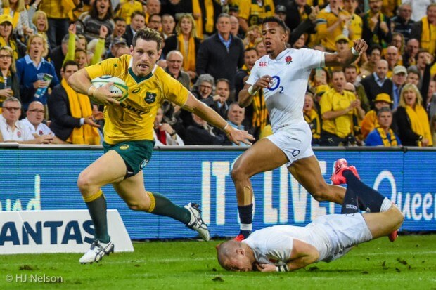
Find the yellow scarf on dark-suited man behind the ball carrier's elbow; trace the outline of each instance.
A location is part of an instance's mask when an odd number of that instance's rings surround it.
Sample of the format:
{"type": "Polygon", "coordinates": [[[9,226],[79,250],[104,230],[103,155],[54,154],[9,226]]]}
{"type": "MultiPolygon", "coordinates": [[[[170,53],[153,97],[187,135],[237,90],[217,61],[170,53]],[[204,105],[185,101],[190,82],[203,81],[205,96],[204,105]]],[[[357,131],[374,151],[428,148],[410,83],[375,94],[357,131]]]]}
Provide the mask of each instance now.
{"type": "MultiPolygon", "coordinates": [[[[91,102],[89,101],[88,96],[76,93],[75,90],[68,86],[65,79],[62,79],[60,84],[62,84],[67,92],[72,117],[86,118],[91,116],[91,102]]],[[[72,129],[72,133],[70,137],[68,137],[67,142],[72,144],[98,145],[100,144],[100,134],[98,134],[97,128],[84,124],[79,128],[72,129]]]]}

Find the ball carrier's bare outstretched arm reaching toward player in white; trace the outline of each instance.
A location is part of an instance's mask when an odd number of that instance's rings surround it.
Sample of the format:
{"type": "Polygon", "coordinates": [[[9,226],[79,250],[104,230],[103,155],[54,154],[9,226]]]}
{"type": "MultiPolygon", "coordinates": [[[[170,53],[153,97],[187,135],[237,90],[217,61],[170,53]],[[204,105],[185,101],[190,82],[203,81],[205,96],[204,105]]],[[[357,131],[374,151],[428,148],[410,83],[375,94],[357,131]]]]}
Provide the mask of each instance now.
{"type": "Polygon", "coordinates": [[[252,145],[250,141],[255,140],[255,138],[249,134],[247,131],[241,131],[227,124],[226,120],[222,119],[221,116],[211,107],[208,107],[205,103],[200,102],[193,96],[192,93],[188,93],[188,100],[186,100],[185,105],[183,106],[185,110],[189,112],[193,112],[201,119],[207,121],[207,123],[212,124],[222,131],[224,131],[227,135],[227,138],[231,140],[231,142],[240,144],[241,142],[252,145]]]}

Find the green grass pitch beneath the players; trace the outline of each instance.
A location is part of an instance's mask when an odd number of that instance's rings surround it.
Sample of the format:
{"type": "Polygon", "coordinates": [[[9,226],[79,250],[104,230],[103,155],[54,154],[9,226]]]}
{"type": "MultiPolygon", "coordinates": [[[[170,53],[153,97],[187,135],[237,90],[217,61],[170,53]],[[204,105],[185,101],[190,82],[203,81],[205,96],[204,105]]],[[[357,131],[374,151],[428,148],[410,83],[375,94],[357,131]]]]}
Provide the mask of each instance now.
{"type": "Polygon", "coordinates": [[[134,253],[92,265],[80,265],[79,253],[0,256],[0,289],[436,289],[436,235],[381,238],[289,273],[226,272],[215,255],[219,242],[134,243],[134,253]],[[31,275],[63,282],[30,282],[31,275]]]}

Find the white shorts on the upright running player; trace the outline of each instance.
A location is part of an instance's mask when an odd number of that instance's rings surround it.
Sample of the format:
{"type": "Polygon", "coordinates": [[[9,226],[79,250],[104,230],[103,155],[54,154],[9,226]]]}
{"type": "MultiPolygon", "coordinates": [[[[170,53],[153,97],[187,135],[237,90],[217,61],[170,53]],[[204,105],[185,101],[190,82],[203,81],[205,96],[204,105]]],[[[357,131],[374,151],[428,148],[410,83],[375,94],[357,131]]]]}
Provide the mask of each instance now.
{"type": "Polygon", "coordinates": [[[267,138],[288,157],[286,167],[298,159],[314,155],[311,145],[312,132],[306,121],[279,128],[267,138]]]}

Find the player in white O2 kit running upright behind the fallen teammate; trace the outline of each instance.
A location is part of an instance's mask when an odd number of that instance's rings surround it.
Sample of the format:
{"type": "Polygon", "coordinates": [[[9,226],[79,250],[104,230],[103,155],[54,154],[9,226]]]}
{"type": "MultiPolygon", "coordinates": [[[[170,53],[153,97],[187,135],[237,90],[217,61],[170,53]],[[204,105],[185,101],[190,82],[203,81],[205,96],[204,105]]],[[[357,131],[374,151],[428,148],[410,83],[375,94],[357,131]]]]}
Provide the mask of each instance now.
{"type": "MultiPolygon", "coordinates": [[[[321,175],[311,147],[312,133],[304,121],[302,107],[310,71],[316,67],[346,66],[368,48],[363,39],[352,49],[325,53],[312,49],[286,48],[286,29],[278,18],[265,18],[262,37],[268,55],[259,58],[239,93],[238,103],[247,107],[262,89],[273,135],[263,138],[238,158],[231,177],[236,187],[241,241],[252,230],[252,185],[250,177],[286,164],[290,173],[318,201],[342,204],[345,188],[328,185],[321,175]]],[[[333,112],[342,114],[342,111],[333,112]]],[[[335,117],[335,116],[332,116],[335,117]]]]}

